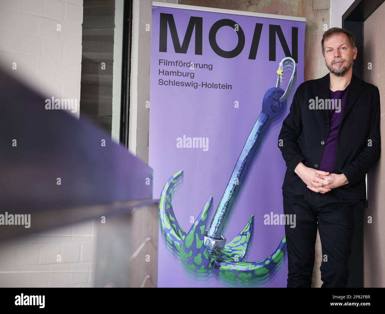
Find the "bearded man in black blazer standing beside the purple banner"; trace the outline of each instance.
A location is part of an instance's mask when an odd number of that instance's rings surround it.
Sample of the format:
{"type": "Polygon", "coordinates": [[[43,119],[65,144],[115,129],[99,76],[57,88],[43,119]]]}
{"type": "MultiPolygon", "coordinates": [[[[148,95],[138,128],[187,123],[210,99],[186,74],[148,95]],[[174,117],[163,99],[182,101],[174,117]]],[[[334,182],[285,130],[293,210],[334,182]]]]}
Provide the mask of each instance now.
{"type": "Polygon", "coordinates": [[[322,287],[347,286],[354,208],[362,208],[365,175],[381,150],[380,93],[353,74],[353,35],[331,28],[321,47],[330,72],[298,86],[278,138],[283,211],[296,215],[296,228],[285,225],[287,287],[311,287],[317,228],[322,287]]]}

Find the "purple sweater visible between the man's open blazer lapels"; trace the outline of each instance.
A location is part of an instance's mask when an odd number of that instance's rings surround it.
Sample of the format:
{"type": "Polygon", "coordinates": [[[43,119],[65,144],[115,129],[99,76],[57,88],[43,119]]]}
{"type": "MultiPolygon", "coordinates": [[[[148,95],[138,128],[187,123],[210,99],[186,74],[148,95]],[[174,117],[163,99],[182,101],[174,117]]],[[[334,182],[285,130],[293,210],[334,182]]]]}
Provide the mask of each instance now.
{"type": "Polygon", "coordinates": [[[342,109],[343,109],[343,105],[345,104],[348,89],[349,89],[349,85],[346,86],[345,90],[330,91],[330,99],[334,99],[335,103],[338,102],[338,99],[341,99],[341,108],[339,112],[336,112],[335,109],[332,109],[332,108],[330,109],[329,134],[325,143],[325,149],[323,151],[318,170],[334,173],[333,169],[334,169],[334,161],[337,153],[338,128],[340,126],[342,109]]]}

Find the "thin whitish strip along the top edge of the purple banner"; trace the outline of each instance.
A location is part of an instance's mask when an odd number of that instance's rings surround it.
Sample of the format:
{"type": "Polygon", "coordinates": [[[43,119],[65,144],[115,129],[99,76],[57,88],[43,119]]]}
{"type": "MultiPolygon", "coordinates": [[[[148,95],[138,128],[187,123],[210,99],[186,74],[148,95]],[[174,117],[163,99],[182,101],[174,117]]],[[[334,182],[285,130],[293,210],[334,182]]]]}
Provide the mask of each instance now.
{"type": "Polygon", "coordinates": [[[306,22],[306,17],[291,17],[288,15],[275,15],[275,14],[258,13],[258,12],[246,12],[246,11],[227,10],[227,9],[218,9],[218,8],[206,8],[206,7],[197,7],[196,5],[165,3],[165,2],[157,2],[157,1],[151,1],[151,5],[156,6],[156,7],[177,8],[177,9],[206,11],[206,12],[219,12],[219,13],[226,13],[226,14],[247,15],[247,16],[253,16],[253,17],[276,18],[276,19],[280,19],[280,20],[306,22]]]}

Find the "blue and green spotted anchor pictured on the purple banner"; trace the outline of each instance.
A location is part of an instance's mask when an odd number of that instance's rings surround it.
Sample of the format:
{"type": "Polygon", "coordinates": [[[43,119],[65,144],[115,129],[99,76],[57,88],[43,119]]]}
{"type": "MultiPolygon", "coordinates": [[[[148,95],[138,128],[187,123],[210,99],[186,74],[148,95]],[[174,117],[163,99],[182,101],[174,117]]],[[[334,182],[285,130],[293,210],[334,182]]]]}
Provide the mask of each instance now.
{"type": "Polygon", "coordinates": [[[244,261],[253,235],[254,215],[229,243],[226,243],[222,232],[251,161],[260,147],[263,134],[284,111],[283,108],[293,89],[295,76],[295,61],[290,57],[283,58],[277,70],[276,87],[269,88],[264,94],[261,113],[238,157],[209,229],[206,229],[206,226],[213,209],[212,196],[207,199],[198,218],[186,233],[178,223],[172,208],[172,194],[176,186],[181,183],[183,171],[174,173],[164,185],[159,203],[159,226],[162,238],[167,247],[179,256],[184,269],[196,278],[215,275],[230,284],[263,284],[269,281],[283,263],[286,254],[285,237],[268,258],[258,262],[244,261]],[[287,62],[292,63],[293,72],[284,91],[279,86],[283,68],[287,62]]]}

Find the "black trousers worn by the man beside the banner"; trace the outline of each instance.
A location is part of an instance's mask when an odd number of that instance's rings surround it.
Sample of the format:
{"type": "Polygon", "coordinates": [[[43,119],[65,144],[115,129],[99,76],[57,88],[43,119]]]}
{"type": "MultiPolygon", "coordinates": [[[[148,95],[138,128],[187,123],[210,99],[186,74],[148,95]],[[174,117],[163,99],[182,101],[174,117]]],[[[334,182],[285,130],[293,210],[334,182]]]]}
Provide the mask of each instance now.
{"type": "Polygon", "coordinates": [[[346,287],[354,233],[354,209],[360,199],[338,197],[333,189],[296,195],[282,190],[284,214],[295,214],[295,228],[285,224],[287,287],[311,287],[317,228],[322,246],[321,287],[346,287]]]}

